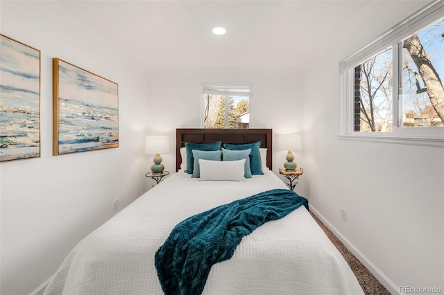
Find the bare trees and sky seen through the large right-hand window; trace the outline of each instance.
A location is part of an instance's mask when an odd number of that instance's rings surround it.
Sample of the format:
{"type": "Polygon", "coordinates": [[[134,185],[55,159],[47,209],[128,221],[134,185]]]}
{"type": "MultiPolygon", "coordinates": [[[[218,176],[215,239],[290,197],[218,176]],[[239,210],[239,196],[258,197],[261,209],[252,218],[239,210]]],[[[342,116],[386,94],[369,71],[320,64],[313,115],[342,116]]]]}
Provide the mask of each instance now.
{"type": "Polygon", "coordinates": [[[355,131],[393,131],[395,75],[399,127],[443,127],[444,19],[355,66],[355,131]],[[398,67],[393,66],[394,51],[398,67]]]}

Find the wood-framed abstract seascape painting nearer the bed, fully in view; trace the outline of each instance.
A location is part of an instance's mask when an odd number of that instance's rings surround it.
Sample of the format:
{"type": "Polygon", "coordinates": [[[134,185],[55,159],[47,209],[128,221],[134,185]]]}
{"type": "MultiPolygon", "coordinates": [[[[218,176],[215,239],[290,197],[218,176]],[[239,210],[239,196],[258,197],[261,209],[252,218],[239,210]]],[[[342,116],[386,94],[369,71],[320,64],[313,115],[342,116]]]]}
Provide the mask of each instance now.
{"type": "Polygon", "coordinates": [[[117,83],[53,58],[53,154],[119,147],[117,83]]]}

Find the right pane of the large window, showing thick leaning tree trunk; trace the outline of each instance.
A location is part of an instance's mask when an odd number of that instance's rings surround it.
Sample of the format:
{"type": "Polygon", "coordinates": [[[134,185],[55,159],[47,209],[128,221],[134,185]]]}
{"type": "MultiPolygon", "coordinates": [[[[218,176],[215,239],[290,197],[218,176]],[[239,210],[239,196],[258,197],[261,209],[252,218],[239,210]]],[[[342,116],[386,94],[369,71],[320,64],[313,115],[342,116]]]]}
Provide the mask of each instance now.
{"type": "Polygon", "coordinates": [[[444,19],[404,39],[401,58],[401,125],[444,126],[444,19]]]}

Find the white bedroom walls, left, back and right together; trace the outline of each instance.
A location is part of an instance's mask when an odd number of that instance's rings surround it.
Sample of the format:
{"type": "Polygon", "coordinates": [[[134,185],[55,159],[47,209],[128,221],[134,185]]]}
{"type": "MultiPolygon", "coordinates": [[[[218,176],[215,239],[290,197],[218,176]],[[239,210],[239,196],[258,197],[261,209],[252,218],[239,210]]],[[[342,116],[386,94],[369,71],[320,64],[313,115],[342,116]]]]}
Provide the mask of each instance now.
{"type": "MultiPolygon", "coordinates": [[[[144,136],[199,127],[202,82],[251,82],[255,127],[271,127],[275,134],[302,132],[304,150],[294,154],[305,174],[296,190],[309,196],[313,208],[386,282],[443,287],[443,150],[336,136],[339,60],[423,3],[375,1],[373,29],[364,26],[372,11],[352,17],[337,44],[328,44],[325,56],[314,57],[313,67],[302,72],[142,73],[56,2],[2,1],[1,33],[42,51],[42,157],[0,164],[0,293],[28,294],[44,283],[78,240],[112,216],[114,199],[126,206],[151,186],[144,177],[151,161],[143,154],[144,136]],[[119,148],[52,156],[52,57],[119,84],[119,148]],[[347,223],[341,222],[340,208],[347,210],[347,223]]],[[[284,154],[275,154],[275,171],[284,154]]],[[[173,150],[162,159],[173,171],[173,150]]]]}

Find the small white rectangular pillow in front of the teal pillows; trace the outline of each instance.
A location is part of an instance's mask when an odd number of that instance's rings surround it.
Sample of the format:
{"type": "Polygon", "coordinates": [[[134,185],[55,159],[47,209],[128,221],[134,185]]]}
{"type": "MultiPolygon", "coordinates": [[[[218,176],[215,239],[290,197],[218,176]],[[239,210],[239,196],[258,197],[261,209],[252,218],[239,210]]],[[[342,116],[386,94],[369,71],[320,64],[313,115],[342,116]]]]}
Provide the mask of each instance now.
{"type": "Polygon", "coordinates": [[[237,161],[211,161],[199,159],[199,181],[230,180],[245,181],[245,159],[237,161]]]}

